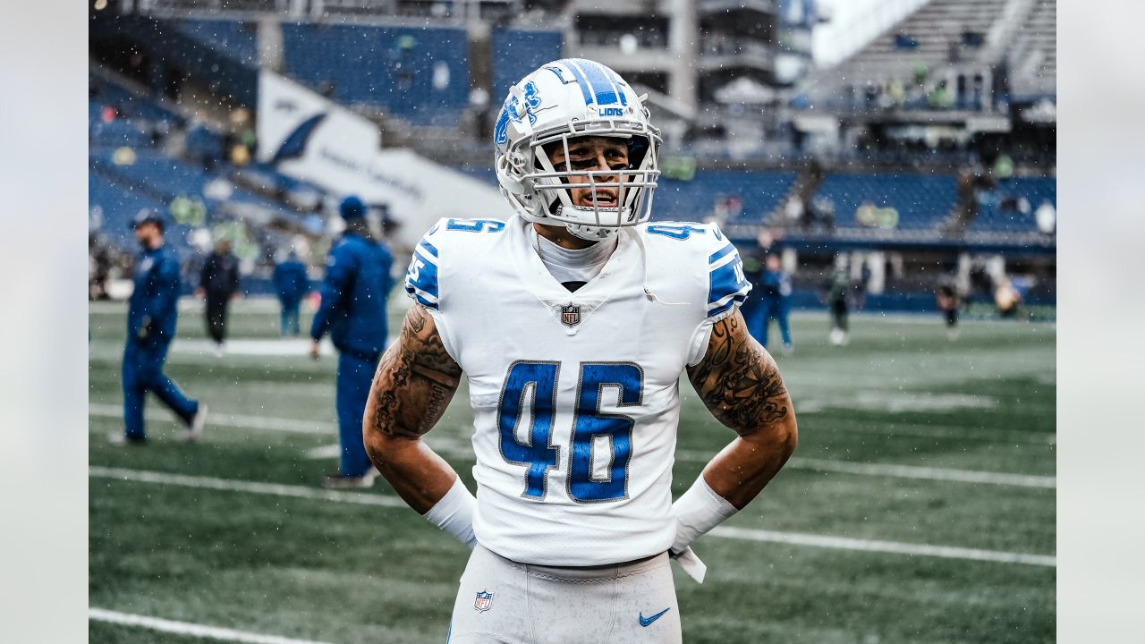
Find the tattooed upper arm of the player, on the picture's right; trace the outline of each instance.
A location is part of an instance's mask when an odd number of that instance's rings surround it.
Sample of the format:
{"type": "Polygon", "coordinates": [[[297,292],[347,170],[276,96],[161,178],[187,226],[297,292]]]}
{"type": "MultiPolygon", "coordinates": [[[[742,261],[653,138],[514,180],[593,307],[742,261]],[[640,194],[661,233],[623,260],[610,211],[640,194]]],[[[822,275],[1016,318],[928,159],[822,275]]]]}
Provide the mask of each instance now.
{"type": "Polygon", "coordinates": [[[759,346],[735,313],[712,327],[708,353],[688,378],[716,418],[740,435],[790,414],[791,399],[775,360],[759,346]]]}

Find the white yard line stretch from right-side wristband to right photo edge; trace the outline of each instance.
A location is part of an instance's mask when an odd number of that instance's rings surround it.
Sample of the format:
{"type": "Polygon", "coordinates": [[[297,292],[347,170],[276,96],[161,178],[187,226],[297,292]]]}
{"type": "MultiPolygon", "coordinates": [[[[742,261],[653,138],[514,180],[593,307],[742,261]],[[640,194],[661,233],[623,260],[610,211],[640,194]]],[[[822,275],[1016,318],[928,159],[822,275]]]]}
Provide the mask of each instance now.
{"type": "Polygon", "coordinates": [[[915,557],[942,557],[946,559],[969,559],[973,561],[1028,564],[1032,566],[1049,566],[1051,568],[1057,567],[1057,558],[1052,555],[1029,555],[1026,552],[978,550],[974,548],[955,548],[953,545],[927,545],[925,543],[850,539],[845,536],[827,536],[798,532],[775,532],[769,529],[734,528],[729,526],[717,526],[708,534],[722,536],[725,539],[789,543],[791,545],[810,545],[812,548],[830,548],[834,550],[862,550],[864,552],[886,552],[890,555],[909,555],[915,557]]]}

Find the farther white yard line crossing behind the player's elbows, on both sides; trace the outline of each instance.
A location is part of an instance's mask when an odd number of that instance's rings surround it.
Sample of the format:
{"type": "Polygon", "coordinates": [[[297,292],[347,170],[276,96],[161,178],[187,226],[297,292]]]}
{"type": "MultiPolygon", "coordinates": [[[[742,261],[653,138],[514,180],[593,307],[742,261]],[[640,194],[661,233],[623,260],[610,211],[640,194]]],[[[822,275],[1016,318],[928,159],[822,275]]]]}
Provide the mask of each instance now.
{"type": "MultiPolygon", "coordinates": [[[[111,405],[89,405],[88,414],[105,418],[121,417],[121,410],[111,405]]],[[[165,411],[155,410],[145,414],[151,421],[169,421],[171,415],[165,411]]],[[[338,426],[334,423],[323,423],[321,421],[294,421],[290,418],[266,418],[261,416],[236,416],[212,411],[207,418],[210,425],[229,426],[251,430],[269,430],[279,432],[309,433],[323,435],[337,435],[338,426]]],[[[445,440],[444,435],[429,435],[427,441],[431,447],[447,456],[473,457],[468,441],[445,440]]],[[[331,458],[337,457],[339,448],[334,446],[323,446],[307,450],[306,458],[331,458]]],[[[714,454],[705,451],[677,450],[678,461],[706,463],[714,454]]],[[[921,468],[914,465],[897,465],[891,463],[855,463],[850,461],[830,461],[824,458],[802,458],[793,457],[788,461],[788,468],[797,470],[812,470],[816,472],[839,472],[846,474],[891,477],[900,479],[922,479],[935,481],[951,481],[966,484],[1003,485],[1016,487],[1040,487],[1057,488],[1055,477],[1037,474],[1014,474],[1009,472],[984,472],[978,470],[955,470],[948,468],[921,468]]]]}

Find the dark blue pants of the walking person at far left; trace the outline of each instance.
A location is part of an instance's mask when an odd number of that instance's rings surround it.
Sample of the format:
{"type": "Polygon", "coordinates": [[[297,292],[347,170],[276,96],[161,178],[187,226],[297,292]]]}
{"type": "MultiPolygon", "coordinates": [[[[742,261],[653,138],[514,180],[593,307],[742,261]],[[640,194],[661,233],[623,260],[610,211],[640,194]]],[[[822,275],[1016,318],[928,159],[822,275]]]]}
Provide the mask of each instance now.
{"type": "Polygon", "coordinates": [[[129,438],[143,438],[143,403],[147,392],[155,393],[184,423],[189,423],[199,410],[198,401],[179,391],[167,376],[163,375],[163,363],[167,360],[168,343],[142,346],[128,340],[124,347],[121,370],[124,385],[124,425],[129,438]]]}

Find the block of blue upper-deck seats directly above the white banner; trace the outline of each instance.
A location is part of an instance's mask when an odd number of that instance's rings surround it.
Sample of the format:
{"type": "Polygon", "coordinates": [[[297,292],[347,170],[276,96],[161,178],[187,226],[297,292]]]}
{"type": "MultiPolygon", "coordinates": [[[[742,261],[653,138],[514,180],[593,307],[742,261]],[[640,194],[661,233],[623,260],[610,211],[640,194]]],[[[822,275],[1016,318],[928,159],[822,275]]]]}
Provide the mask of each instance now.
{"type": "Polygon", "coordinates": [[[463,29],[283,24],[286,73],[418,125],[456,126],[469,101],[463,29]],[[435,84],[436,79],[436,84],[435,84]]]}

